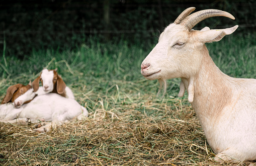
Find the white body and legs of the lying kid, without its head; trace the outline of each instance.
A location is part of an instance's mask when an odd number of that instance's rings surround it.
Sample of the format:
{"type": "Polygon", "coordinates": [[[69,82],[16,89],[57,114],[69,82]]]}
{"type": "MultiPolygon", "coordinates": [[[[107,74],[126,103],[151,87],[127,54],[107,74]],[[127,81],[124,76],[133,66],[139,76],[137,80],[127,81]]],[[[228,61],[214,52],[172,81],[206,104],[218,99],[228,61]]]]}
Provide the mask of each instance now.
{"type": "Polygon", "coordinates": [[[34,131],[49,132],[58,125],[77,118],[83,120],[88,111],[76,100],[65,98],[56,93],[42,94],[31,102],[14,108],[11,103],[0,105],[0,121],[5,123],[39,123],[34,131]],[[50,122],[47,122],[50,121],[50,122]]]}

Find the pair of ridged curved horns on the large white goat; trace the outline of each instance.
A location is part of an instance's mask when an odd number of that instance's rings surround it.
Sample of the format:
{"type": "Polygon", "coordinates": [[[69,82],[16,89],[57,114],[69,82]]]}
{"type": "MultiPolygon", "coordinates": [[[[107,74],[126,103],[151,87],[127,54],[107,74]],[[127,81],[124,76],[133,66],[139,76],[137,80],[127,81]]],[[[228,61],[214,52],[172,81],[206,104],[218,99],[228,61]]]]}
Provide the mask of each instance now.
{"type": "Polygon", "coordinates": [[[191,30],[198,22],[206,18],[215,17],[215,16],[225,16],[231,19],[235,19],[235,17],[232,14],[226,11],[217,10],[217,9],[201,10],[189,15],[194,10],[195,10],[195,7],[189,7],[185,9],[175,19],[174,23],[184,25],[187,27],[188,30],[191,30]]]}

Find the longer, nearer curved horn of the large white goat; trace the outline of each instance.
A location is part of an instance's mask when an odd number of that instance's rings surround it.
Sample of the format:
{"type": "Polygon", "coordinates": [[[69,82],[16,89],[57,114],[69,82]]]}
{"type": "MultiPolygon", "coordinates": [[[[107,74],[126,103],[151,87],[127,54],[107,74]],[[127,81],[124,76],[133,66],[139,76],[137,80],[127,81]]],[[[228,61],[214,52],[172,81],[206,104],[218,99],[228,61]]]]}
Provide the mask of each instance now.
{"type": "Polygon", "coordinates": [[[184,25],[188,28],[188,30],[191,30],[198,22],[206,18],[215,17],[215,16],[225,16],[231,19],[235,19],[235,17],[232,14],[226,11],[217,10],[217,9],[206,9],[206,10],[197,11],[187,16],[186,18],[183,19],[180,25],[184,25]]]}

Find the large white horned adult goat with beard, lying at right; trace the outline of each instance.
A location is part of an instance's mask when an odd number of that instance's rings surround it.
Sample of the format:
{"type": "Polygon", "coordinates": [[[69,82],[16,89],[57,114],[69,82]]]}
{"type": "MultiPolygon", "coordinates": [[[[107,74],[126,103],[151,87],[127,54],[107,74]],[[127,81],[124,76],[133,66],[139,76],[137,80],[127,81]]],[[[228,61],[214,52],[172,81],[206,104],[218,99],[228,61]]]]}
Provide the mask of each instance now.
{"type": "Polygon", "coordinates": [[[181,78],[178,96],[188,92],[207,141],[217,154],[217,162],[256,160],[256,80],[236,79],[214,64],[205,43],[221,40],[238,25],[226,29],[192,30],[213,16],[235,19],[228,12],[207,9],[189,15],[184,10],[159,37],[159,42],[141,64],[141,74],[149,80],[181,78]]]}

